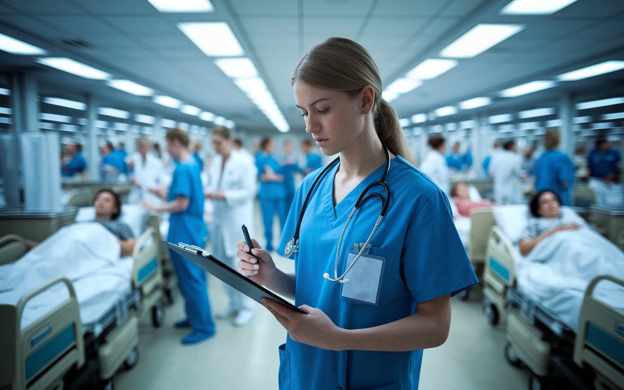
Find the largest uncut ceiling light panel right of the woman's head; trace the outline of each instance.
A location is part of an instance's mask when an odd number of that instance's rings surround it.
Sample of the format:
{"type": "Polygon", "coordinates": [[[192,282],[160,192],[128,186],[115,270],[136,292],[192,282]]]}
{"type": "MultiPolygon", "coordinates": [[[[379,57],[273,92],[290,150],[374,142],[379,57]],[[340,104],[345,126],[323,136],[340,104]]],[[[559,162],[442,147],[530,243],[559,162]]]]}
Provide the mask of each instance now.
{"type": "Polygon", "coordinates": [[[442,50],[440,55],[451,58],[474,57],[522,29],[524,29],[522,24],[477,24],[442,50]]]}

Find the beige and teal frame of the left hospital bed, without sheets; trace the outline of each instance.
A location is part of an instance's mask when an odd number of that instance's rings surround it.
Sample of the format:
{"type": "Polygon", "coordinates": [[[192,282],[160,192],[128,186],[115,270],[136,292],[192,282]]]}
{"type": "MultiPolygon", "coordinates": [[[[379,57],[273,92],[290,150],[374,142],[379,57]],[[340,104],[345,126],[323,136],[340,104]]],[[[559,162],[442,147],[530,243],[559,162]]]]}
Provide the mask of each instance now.
{"type": "MultiPolygon", "coordinates": [[[[62,389],[70,384],[77,388],[95,373],[103,388],[112,389],[117,369],[137,364],[140,319],[151,316],[154,326],[163,323],[160,241],[156,238],[153,227],[139,236],[131,260],[132,282],[109,297],[109,308],[89,324],[82,323],[74,286],[62,276],[21,296],[16,305],[0,305],[0,389],[62,389]],[[59,283],[66,285],[68,297],[24,326],[22,314],[29,301],[59,283]]],[[[24,253],[24,238],[0,238],[0,265],[24,253]]]]}

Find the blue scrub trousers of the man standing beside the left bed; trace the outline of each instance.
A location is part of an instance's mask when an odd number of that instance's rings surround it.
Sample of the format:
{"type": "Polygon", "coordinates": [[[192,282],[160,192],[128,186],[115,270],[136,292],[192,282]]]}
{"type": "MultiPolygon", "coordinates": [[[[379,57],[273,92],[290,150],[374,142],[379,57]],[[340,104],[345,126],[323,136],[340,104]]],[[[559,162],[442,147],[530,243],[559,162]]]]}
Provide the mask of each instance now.
{"type": "Polygon", "coordinates": [[[210,302],[206,286],[206,271],[170,250],[171,261],[178,276],[180,291],[186,301],[188,323],[196,331],[213,333],[215,324],[210,315],[210,302]]]}

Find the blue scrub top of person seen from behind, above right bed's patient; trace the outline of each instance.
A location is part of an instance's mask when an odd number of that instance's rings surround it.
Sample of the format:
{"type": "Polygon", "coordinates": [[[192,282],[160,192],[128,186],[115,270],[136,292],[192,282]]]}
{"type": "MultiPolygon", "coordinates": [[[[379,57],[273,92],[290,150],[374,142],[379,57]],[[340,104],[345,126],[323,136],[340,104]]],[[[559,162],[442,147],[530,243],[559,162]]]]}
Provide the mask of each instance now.
{"type": "Polygon", "coordinates": [[[552,191],[561,199],[562,205],[571,206],[570,190],[574,184],[574,170],[570,157],[557,150],[548,150],[537,159],[531,170],[535,175],[535,191],[552,191]],[[568,182],[568,186],[563,187],[562,182],[568,182]]]}

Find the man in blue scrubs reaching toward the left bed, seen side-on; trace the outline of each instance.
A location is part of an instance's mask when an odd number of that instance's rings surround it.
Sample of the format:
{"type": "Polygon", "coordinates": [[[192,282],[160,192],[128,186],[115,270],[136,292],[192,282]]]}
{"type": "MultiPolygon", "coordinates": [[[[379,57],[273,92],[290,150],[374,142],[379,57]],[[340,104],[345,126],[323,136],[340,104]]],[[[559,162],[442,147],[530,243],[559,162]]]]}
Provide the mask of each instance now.
{"type": "MultiPolygon", "coordinates": [[[[178,165],[173,172],[168,202],[160,206],[140,204],[144,207],[170,212],[167,240],[183,242],[203,248],[207,235],[203,223],[203,191],[200,168],[188,150],[188,135],[184,130],[171,129],[165,135],[167,152],[178,165]]],[[[171,251],[180,291],[186,301],[187,319],[175,323],[176,328],[193,328],[192,333],[182,338],[183,344],[195,344],[215,334],[215,324],[210,315],[210,302],[206,290],[206,272],[171,251]]]]}

